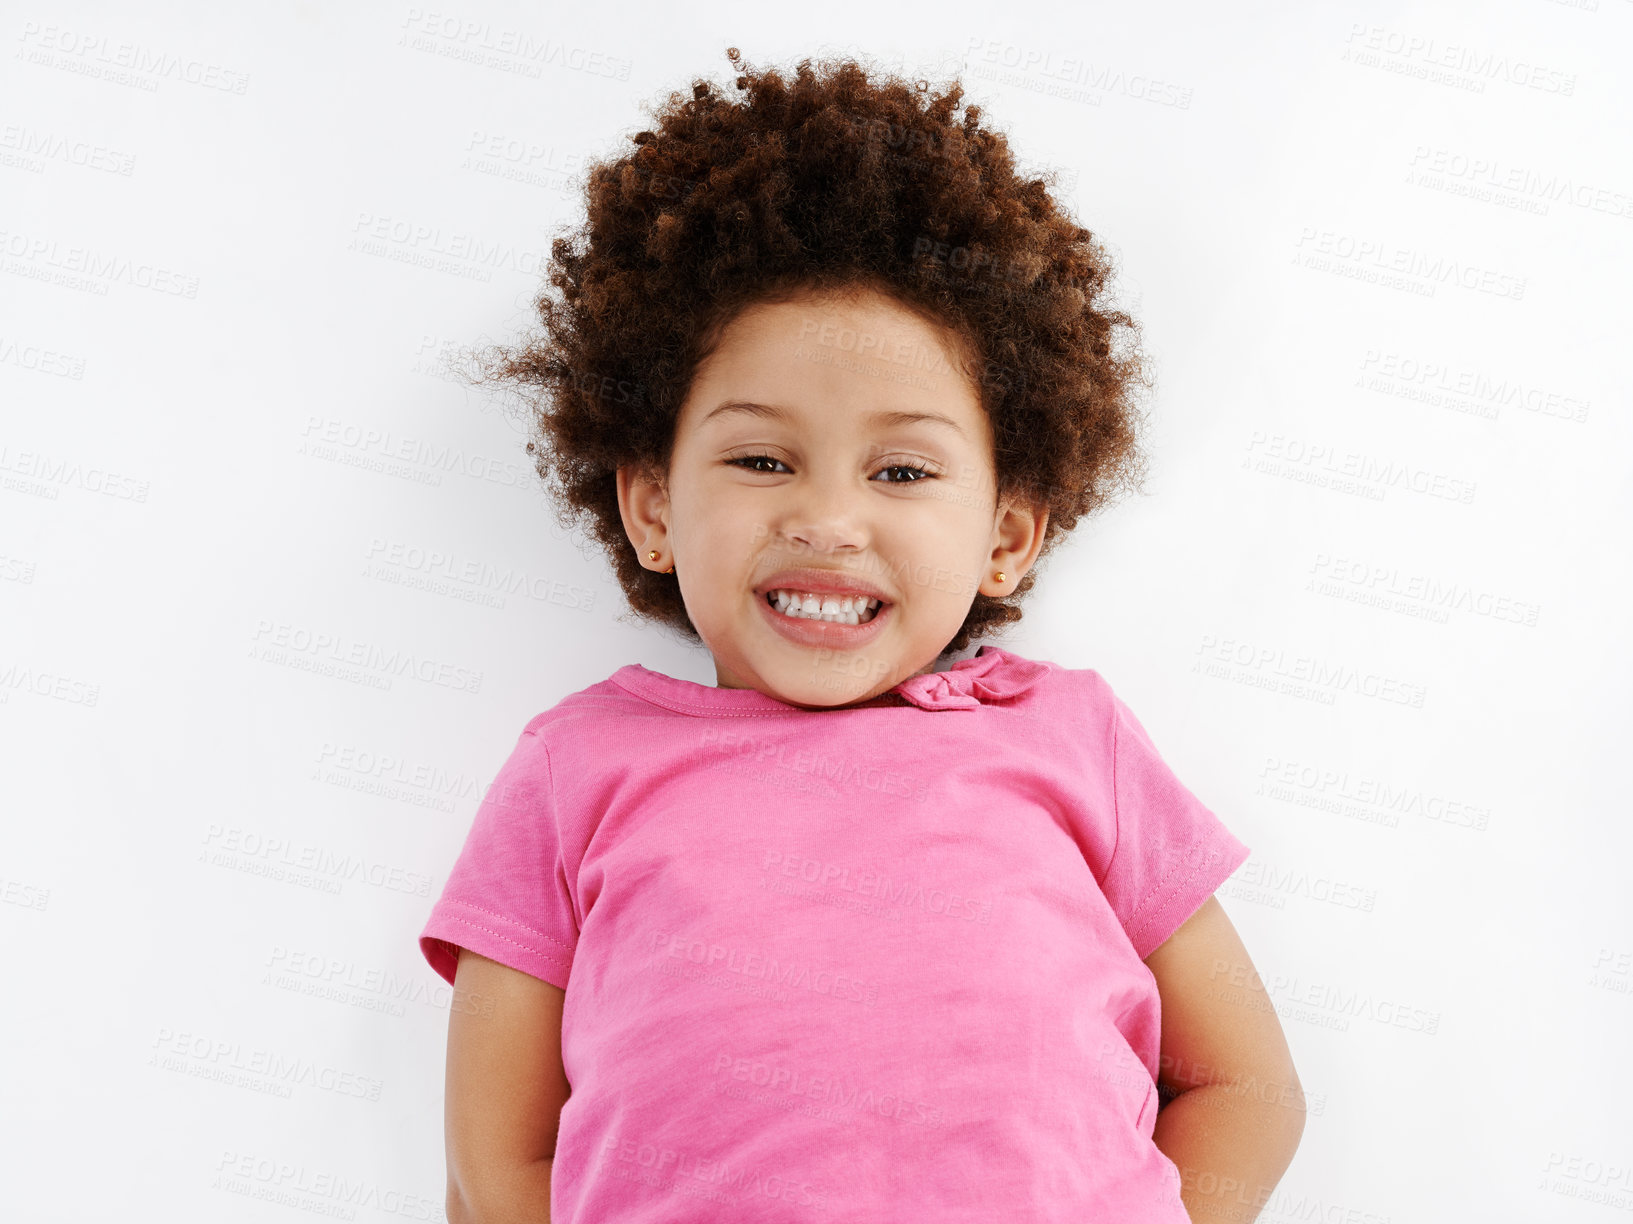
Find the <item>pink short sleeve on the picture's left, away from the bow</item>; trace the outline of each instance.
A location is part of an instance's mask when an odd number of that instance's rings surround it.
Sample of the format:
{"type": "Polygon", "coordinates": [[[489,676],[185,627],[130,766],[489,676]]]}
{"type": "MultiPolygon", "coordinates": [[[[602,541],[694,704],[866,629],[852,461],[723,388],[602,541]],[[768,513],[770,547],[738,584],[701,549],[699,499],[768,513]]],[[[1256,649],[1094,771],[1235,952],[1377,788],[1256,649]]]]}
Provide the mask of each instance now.
{"type": "Polygon", "coordinates": [[[576,947],[550,754],[529,725],[477,808],[420,951],[449,984],[457,948],[470,948],[565,991],[576,947]]]}

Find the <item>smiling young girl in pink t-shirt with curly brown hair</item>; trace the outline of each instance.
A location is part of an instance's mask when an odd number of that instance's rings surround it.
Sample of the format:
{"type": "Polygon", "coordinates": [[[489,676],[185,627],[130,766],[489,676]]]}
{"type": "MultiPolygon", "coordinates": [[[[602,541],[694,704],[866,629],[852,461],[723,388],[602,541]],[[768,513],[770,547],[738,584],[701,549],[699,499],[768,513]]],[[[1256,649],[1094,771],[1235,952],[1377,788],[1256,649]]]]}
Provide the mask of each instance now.
{"type": "Polygon", "coordinates": [[[715,684],[619,667],[477,811],[420,937],[449,1219],[1251,1221],[1303,1097],[1248,847],[1099,672],[947,664],[1138,475],[1106,255],[957,83],[728,55],[495,367],[715,684]]]}

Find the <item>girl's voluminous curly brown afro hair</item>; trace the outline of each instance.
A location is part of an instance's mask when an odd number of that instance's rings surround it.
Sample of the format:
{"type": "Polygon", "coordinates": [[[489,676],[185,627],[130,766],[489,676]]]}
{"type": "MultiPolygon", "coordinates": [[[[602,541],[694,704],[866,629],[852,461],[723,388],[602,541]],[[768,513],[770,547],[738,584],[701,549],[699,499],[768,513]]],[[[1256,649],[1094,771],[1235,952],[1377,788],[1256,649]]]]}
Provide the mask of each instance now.
{"type": "MultiPolygon", "coordinates": [[[[852,57],[785,80],[727,57],[736,96],[696,80],[632,149],[586,163],[586,220],[550,246],[539,330],[490,346],[477,379],[523,392],[558,521],[586,522],[630,609],[702,641],[674,574],[630,545],[616,472],[668,472],[694,372],[759,302],[874,289],[942,328],[980,388],[999,499],[1048,509],[1039,561],[1124,486],[1143,491],[1151,382],[1138,325],[1109,300],[1110,258],[980,108],[955,116],[962,85],[870,80],[852,57]]],[[[942,656],[1017,622],[1035,574],[978,592],[942,656]]]]}

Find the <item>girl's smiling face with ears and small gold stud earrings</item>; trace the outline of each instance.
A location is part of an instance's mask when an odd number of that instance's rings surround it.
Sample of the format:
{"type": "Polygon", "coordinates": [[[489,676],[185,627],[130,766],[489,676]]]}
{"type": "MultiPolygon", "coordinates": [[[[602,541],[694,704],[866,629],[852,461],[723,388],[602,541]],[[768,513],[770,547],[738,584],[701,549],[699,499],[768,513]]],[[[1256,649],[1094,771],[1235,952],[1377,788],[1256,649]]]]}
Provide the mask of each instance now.
{"type": "Polygon", "coordinates": [[[697,370],[666,480],[619,468],[629,539],[674,566],[722,689],[865,702],[928,672],[978,591],[1016,589],[1048,512],[998,504],[991,426],[957,362],[877,294],[753,305],[697,370]],[[792,568],[820,573],[777,578],[792,568]],[[766,602],[828,581],[887,607],[848,628],[766,602]]]}

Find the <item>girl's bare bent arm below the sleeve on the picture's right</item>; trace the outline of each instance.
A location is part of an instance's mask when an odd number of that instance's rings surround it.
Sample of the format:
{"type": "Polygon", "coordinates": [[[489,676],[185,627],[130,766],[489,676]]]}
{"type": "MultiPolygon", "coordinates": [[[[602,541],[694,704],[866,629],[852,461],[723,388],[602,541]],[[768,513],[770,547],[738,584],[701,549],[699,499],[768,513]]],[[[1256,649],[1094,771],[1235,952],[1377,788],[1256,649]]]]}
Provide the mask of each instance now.
{"type": "Polygon", "coordinates": [[[1305,1129],[1282,1022],[1218,898],[1145,960],[1163,999],[1151,1141],[1174,1162],[1197,1224],[1251,1224],[1305,1129]],[[1177,1095],[1174,1095],[1177,1093],[1177,1095]]]}

